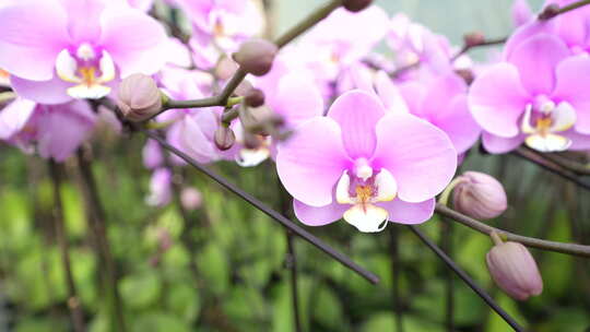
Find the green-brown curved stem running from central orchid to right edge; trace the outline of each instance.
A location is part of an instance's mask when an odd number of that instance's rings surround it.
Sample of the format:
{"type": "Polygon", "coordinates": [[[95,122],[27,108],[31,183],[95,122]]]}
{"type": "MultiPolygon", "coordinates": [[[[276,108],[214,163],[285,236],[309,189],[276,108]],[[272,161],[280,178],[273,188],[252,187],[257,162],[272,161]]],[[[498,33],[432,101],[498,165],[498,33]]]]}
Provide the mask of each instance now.
{"type": "MultiPolygon", "coordinates": [[[[548,240],[538,239],[534,237],[527,237],[527,236],[514,234],[504,229],[488,226],[482,222],[479,222],[472,217],[469,217],[442,204],[436,204],[435,211],[436,213],[440,215],[444,215],[448,218],[459,222],[485,235],[491,235],[493,232],[495,232],[504,240],[520,242],[527,247],[590,258],[590,246],[548,241],[548,240]]],[[[447,220],[442,218],[442,221],[447,221],[447,220]]]]}

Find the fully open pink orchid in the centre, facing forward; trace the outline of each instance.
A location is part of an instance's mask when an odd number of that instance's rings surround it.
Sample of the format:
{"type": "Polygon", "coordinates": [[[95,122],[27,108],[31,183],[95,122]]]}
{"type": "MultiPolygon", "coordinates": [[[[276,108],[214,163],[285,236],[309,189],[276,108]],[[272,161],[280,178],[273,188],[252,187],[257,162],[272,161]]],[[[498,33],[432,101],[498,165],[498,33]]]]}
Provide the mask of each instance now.
{"type": "Polygon", "coordinates": [[[411,115],[386,115],[373,94],[352,91],[279,145],[276,167],[303,223],[344,217],[361,232],[379,232],[386,221],[416,224],[432,216],[457,152],[438,128],[411,115]]]}

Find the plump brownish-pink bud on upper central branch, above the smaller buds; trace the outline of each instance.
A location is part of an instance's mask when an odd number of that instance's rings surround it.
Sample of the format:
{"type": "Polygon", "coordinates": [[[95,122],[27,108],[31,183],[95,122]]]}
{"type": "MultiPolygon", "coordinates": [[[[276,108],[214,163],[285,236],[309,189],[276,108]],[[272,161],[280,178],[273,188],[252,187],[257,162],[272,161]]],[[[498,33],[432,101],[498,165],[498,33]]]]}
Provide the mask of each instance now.
{"type": "Polygon", "coordinates": [[[253,38],[241,44],[233,58],[247,73],[262,76],[271,70],[278,50],[271,42],[253,38]]]}

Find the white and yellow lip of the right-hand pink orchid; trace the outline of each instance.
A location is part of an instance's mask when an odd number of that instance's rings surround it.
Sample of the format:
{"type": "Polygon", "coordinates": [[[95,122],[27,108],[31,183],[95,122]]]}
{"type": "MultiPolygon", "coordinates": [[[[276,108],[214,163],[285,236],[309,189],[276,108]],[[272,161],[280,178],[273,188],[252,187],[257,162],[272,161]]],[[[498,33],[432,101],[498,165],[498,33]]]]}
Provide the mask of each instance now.
{"type": "Polygon", "coordinates": [[[555,105],[553,100],[543,99],[535,103],[539,110],[536,119],[532,119],[533,106],[527,105],[522,117],[521,130],[528,134],[524,142],[528,146],[541,152],[565,151],[571,145],[571,140],[558,134],[570,129],[576,123],[576,110],[567,102],[555,105]],[[531,124],[534,122],[533,124],[531,124]]]}

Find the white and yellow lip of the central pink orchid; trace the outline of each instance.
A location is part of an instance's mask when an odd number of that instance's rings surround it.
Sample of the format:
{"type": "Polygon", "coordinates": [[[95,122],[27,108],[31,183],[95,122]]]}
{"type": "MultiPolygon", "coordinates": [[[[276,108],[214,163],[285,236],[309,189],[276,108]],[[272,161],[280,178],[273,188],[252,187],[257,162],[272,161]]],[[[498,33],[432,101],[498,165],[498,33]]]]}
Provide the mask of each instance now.
{"type": "Polygon", "coordinates": [[[389,170],[382,168],[376,175],[366,161],[355,163],[355,176],[344,170],[337,185],[337,202],[352,205],[343,218],[358,230],[380,232],[387,226],[389,212],[375,203],[396,199],[398,186],[389,170]]]}

